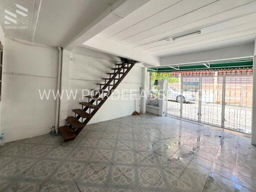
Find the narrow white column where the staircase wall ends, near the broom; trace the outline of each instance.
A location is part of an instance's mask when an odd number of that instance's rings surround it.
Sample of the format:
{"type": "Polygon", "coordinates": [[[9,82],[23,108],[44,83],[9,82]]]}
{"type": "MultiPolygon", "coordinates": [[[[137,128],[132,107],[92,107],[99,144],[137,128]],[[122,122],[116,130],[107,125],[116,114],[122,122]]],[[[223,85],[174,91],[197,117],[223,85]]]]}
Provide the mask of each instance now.
{"type": "Polygon", "coordinates": [[[146,98],[148,95],[147,90],[147,68],[142,68],[142,90],[140,95],[140,113],[146,112],[146,98]]]}

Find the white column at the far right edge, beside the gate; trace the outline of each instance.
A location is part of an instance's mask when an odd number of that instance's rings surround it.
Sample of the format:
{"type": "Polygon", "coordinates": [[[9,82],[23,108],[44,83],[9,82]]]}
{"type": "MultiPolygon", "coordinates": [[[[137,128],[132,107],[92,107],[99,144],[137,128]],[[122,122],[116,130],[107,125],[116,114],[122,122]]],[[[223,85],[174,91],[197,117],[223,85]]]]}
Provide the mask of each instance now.
{"type": "Polygon", "coordinates": [[[252,120],[251,120],[251,144],[256,145],[256,39],[254,41],[253,55],[253,93],[252,93],[252,120]]]}

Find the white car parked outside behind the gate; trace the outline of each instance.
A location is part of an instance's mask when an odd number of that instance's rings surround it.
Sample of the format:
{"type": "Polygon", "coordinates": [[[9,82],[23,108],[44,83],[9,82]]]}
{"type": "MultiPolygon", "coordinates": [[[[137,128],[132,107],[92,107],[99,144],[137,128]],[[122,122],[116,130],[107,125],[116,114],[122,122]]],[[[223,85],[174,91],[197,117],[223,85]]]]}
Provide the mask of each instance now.
{"type": "Polygon", "coordinates": [[[181,97],[181,91],[176,90],[173,87],[168,86],[168,99],[176,100],[177,102],[185,102],[188,100],[195,100],[195,96],[193,94],[188,93],[187,91],[182,92],[183,99],[181,97]]]}

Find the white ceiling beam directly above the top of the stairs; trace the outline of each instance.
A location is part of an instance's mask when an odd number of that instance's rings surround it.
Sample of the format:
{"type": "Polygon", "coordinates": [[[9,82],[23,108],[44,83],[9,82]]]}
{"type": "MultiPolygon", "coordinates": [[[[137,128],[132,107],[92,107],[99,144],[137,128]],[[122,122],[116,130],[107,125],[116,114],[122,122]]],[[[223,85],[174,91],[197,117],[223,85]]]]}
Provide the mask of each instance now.
{"type": "Polygon", "coordinates": [[[82,43],[81,46],[133,59],[153,66],[160,66],[161,62],[161,59],[158,56],[134,47],[127,46],[125,44],[118,43],[99,34],[82,43]]]}

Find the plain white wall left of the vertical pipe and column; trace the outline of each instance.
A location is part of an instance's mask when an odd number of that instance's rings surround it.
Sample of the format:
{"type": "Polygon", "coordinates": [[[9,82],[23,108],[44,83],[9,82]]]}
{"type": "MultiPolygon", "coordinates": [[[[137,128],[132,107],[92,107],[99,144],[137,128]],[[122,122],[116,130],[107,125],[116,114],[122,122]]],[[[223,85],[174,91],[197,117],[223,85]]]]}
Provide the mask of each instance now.
{"type": "Polygon", "coordinates": [[[38,89],[56,89],[58,49],[5,38],[2,131],[5,141],[45,134],[55,123],[56,101],[38,89]]]}

